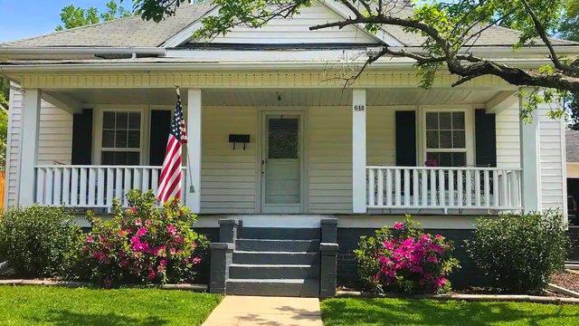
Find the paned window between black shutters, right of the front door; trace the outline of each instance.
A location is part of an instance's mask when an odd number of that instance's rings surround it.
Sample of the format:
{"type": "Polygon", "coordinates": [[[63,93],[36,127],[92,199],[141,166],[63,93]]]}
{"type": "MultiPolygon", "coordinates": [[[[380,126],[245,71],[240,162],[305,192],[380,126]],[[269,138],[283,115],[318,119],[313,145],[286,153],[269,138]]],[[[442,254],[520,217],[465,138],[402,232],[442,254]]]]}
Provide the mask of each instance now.
{"type": "Polygon", "coordinates": [[[464,111],[427,111],[426,160],[441,167],[467,165],[467,130],[464,111]]]}

